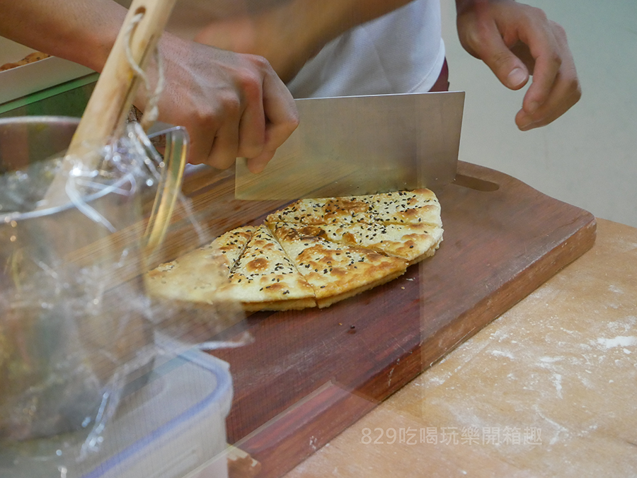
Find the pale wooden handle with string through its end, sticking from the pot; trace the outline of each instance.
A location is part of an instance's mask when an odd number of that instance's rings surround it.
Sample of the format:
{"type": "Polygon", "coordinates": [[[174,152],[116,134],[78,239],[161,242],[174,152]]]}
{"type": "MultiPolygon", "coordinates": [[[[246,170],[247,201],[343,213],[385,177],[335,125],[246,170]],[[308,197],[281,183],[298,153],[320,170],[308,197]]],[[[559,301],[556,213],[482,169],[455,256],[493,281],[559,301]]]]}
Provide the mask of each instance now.
{"type": "Polygon", "coordinates": [[[119,136],[141,80],[127,59],[126,42],[130,41],[132,59],[143,70],[175,3],[176,0],[133,0],[71,139],[62,168],[54,177],[38,209],[67,204],[69,197],[66,185],[74,161],[81,158],[84,168],[97,168],[101,160],[101,146],[108,144],[114,136],[119,136]],[[142,14],[141,20],[139,14],[142,14]]]}

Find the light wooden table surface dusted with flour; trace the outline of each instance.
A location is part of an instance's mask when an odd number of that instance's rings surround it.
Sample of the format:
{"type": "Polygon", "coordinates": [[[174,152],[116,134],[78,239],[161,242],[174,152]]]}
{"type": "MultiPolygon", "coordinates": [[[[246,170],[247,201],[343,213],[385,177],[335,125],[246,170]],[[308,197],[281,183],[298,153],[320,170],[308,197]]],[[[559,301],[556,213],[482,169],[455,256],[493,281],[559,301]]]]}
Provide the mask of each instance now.
{"type": "Polygon", "coordinates": [[[598,220],[592,250],[286,475],[326,476],[636,477],[637,228],[598,220]]]}

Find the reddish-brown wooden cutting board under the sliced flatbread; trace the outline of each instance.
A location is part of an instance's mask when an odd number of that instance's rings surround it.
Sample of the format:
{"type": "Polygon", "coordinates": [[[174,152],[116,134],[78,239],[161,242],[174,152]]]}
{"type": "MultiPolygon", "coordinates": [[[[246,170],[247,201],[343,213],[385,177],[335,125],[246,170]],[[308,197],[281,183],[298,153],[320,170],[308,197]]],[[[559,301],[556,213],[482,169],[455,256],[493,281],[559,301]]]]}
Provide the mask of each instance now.
{"type": "MultiPolygon", "coordinates": [[[[222,232],[281,206],[234,199],[233,177],[191,177],[222,232]]],[[[278,477],[520,301],[595,242],[595,218],[497,171],[459,164],[435,190],[444,240],[398,279],[330,308],[256,313],[230,363],[229,443],[278,477]]]]}

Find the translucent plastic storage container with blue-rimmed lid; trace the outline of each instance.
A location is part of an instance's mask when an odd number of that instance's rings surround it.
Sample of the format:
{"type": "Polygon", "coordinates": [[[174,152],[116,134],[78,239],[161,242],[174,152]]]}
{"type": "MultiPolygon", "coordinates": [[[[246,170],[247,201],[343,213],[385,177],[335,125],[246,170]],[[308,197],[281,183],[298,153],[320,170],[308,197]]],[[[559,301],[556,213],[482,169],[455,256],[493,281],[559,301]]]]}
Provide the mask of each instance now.
{"type": "Polygon", "coordinates": [[[1,444],[0,476],[227,478],[231,402],[226,362],[200,351],[159,357],[101,433],[1,444]]]}

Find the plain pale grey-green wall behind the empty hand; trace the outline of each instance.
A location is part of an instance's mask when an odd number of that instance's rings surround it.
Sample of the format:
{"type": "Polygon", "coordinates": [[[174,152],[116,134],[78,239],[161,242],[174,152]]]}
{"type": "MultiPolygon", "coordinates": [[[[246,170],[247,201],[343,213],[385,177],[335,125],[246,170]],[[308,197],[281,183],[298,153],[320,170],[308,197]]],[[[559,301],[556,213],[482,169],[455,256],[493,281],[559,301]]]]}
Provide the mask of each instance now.
{"type": "Polygon", "coordinates": [[[526,88],[507,90],[464,51],[454,1],[442,0],[451,89],[466,91],[460,159],[637,227],[637,1],[526,3],[566,29],[582,99],[556,122],[520,132],[514,118],[526,88]]]}

